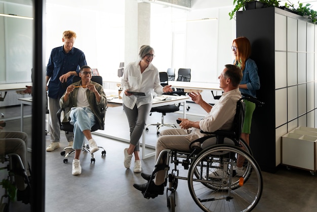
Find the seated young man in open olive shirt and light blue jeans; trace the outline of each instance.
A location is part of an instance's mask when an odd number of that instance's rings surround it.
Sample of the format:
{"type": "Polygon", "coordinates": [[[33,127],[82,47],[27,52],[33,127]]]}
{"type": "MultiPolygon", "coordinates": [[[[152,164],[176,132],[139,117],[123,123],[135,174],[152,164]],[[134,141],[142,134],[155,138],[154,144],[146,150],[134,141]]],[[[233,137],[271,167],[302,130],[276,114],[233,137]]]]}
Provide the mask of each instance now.
{"type": "Polygon", "coordinates": [[[82,80],[69,85],[60,99],[60,107],[70,109],[65,111],[63,122],[70,121],[70,124],[74,125],[73,149],[75,150],[75,156],[72,162],[73,175],[82,173],[79,158],[85,137],[88,140],[91,154],[99,150],[95,140],[92,138],[91,127],[95,123],[102,125],[100,110],[107,105],[106,94],[102,85],[91,81],[92,69],[87,65],[82,66],[79,76],[82,80]]]}

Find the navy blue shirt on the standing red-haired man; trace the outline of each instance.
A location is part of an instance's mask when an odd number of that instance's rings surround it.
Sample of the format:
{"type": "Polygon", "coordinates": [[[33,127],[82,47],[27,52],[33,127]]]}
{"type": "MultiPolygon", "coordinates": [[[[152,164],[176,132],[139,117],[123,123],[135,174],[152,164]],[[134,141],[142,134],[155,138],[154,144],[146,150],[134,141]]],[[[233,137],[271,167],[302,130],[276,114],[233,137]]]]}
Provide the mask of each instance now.
{"type": "Polygon", "coordinates": [[[67,86],[60,82],[60,76],[70,71],[80,72],[80,68],[87,65],[84,52],[80,49],[72,48],[67,54],[63,46],[52,49],[49,63],[47,64],[46,76],[50,77],[48,96],[59,99],[66,91],[68,85],[72,83],[72,76],[67,79],[67,86]]]}

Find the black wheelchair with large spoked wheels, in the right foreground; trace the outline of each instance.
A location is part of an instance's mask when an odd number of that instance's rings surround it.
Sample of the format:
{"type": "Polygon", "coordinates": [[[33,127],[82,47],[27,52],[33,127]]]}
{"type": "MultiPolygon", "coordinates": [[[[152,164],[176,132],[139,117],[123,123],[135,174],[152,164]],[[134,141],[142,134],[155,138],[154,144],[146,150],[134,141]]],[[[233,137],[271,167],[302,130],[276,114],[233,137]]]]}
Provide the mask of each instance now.
{"type": "MultiPolygon", "coordinates": [[[[250,147],[240,138],[245,112],[244,99],[263,105],[256,98],[243,96],[237,101],[231,130],[206,132],[209,135],[194,140],[188,152],[164,150],[160,153],[150,181],[155,178],[157,171],[166,170],[169,211],[175,211],[178,180],[187,180],[192,199],[203,211],[251,211],[257,205],[262,194],[263,179],[250,147]],[[159,163],[161,159],[164,159],[164,164],[159,163]],[[174,167],[168,173],[170,163],[174,167]],[[243,174],[236,172],[238,163],[243,164],[243,174]],[[187,176],[179,175],[178,165],[188,170],[187,176]],[[215,172],[217,174],[213,174],[215,172]]],[[[147,190],[142,194],[147,199],[157,196],[147,190]]]]}

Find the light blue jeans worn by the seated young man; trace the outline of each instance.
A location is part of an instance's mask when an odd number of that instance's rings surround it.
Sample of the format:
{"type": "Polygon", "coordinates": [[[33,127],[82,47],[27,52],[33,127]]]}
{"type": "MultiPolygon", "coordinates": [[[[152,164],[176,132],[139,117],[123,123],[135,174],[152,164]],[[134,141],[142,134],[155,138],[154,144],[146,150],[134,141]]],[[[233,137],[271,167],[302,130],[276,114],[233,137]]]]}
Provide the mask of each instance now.
{"type": "Polygon", "coordinates": [[[83,147],[85,135],[84,130],[91,130],[96,123],[96,118],[90,108],[71,108],[70,124],[74,125],[74,143],[72,148],[80,150],[83,147]]]}

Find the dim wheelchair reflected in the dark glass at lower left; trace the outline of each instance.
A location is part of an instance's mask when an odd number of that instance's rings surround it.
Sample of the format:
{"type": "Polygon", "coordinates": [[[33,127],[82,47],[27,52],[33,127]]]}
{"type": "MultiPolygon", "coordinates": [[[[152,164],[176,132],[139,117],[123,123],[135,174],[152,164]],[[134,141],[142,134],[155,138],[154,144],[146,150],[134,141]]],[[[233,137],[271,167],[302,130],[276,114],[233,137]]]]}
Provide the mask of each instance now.
{"type": "MultiPolygon", "coordinates": [[[[5,192],[0,199],[0,212],[9,212],[10,202],[14,201],[15,197],[17,197],[18,201],[21,200],[25,204],[30,202],[31,184],[30,179],[27,176],[26,169],[24,168],[22,160],[18,154],[12,153],[1,156],[0,163],[6,164],[5,166],[0,167],[0,170],[8,170],[7,179],[3,179],[2,182],[0,182],[0,185],[5,188],[5,192]],[[13,167],[13,164],[16,162],[19,164],[18,168],[13,167]],[[23,176],[24,182],[27,184],[26,189],[22,192],[17,192],[14,178],[15,173],[20,173],[23,176]]],[[[31,173],[30,166],[29,171],[31,173]]]]}

